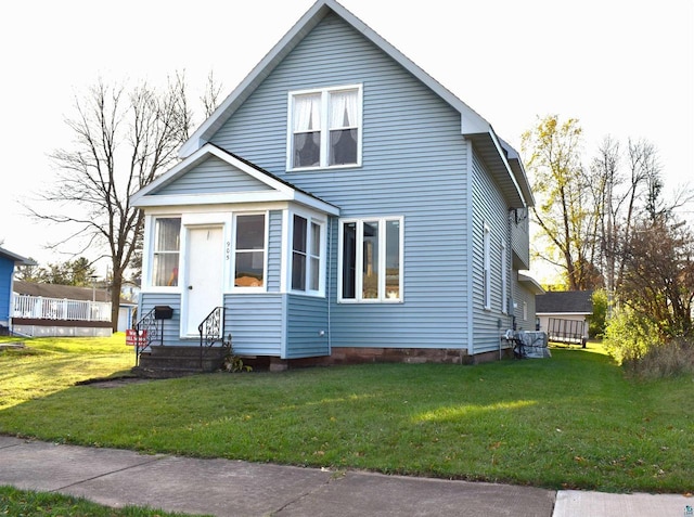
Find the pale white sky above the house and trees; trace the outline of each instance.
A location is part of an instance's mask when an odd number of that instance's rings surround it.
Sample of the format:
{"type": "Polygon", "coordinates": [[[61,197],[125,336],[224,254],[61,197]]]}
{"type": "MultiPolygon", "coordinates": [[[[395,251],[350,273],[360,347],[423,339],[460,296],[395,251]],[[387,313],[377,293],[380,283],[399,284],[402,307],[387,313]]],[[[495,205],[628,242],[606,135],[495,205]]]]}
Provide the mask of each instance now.
{"type": "MultiPolygon", "coordinates": [[[[538,117],[578,118],[586,161],[606,135],[658,150],[666,193],[694,178],[693,0],[340,0],[519,150],[538,117]]],[[[33,220],[70,148],[65,119],[102,77],[162,83],[214,73],[230,93],[313,0],[37,0],[0,7],[0,246],[39,264],[76,246],[33,220]]],[[[90,258],[103,250],[91,249],[90,258]]],[[[106,260],[97,263],[105,274],[106,260]]]]}

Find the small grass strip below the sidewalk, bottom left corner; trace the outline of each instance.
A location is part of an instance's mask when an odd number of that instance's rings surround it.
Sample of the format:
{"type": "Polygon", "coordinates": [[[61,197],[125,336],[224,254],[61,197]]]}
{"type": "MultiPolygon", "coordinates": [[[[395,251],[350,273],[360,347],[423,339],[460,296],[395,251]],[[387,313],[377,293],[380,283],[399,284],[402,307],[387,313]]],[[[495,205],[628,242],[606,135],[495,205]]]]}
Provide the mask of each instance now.
{"type": "Polygon", "coordinates": [[[91,503],[83,497],[0,487],[0,515],[23,517],[175,517],[185,514],[171,514],[139,506],[111,508],[91,503]]]}

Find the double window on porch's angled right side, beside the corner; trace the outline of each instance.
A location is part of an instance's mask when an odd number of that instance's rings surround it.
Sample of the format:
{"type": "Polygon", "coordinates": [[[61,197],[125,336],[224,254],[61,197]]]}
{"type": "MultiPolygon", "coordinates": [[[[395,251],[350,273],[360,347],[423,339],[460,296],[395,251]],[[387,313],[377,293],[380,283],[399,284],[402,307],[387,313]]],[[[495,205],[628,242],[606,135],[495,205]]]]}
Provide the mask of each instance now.
{"type": "Polygon", "coordinates": [[[294,215],[292,237],[292,289],[318,293],[321,285],[323,223],[294,215]]]}

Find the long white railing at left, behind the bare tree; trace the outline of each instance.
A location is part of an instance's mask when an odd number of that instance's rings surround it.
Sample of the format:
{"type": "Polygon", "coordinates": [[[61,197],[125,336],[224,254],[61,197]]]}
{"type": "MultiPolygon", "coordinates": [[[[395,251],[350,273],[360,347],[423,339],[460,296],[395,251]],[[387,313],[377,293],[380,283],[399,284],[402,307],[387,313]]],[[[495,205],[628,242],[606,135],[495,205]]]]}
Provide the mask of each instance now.
{"type": "Polygon", "coordinates": [[[12,318],[111,321],[111,302],[68,300],[15,294],[12,318]]]}

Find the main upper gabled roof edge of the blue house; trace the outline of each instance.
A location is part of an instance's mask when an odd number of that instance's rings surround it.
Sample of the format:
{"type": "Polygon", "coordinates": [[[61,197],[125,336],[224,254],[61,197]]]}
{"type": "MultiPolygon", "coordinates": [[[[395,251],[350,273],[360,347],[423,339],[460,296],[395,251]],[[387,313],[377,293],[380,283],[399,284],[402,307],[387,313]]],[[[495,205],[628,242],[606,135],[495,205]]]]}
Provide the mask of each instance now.
{"type": "Polygon", "coordinates": [[[179,155],[189,156],[207,143],[253,91],[331,12],[361,33],[460,113],[461,133],[474,143],[477,154],[489,167],[511,206],[522,208],[534,205],[532,194],[517,153],[497,137],[491,125],[335,0],[318,0],[181,146],[179,155]]]}

